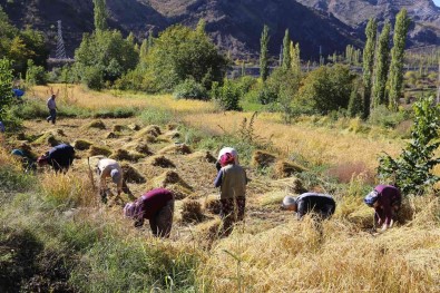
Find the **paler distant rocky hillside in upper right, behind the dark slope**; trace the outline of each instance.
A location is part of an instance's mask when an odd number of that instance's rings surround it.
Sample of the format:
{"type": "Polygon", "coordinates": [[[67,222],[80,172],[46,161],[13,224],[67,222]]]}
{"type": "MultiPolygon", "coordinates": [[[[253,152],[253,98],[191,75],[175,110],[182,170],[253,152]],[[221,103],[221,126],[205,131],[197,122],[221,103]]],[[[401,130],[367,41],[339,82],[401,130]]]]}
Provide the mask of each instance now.
{"type": "Polygon", "coordinates": [[[409,46],[440,45],[440,8],[432,0],[296,0],[319,12],[331,13],[343,23],[364,31],[369,18],[394,21],[405,8],[413,23],[409,46]]]}

